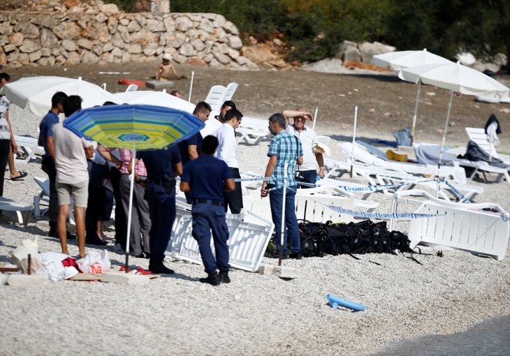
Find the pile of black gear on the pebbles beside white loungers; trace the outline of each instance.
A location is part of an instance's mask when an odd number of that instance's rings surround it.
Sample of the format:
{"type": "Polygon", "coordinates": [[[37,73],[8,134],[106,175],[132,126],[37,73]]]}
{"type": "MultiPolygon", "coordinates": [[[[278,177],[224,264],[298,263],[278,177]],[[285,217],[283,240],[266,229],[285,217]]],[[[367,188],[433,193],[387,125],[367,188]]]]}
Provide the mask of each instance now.
{"type": "Polygon", "coordinates": [[[373,223],[299,223],[303,257],[322,257],[325,253],[394,253],[413,252],[409,239],[399,231],[388,231],[386,221],[373,223]]]}

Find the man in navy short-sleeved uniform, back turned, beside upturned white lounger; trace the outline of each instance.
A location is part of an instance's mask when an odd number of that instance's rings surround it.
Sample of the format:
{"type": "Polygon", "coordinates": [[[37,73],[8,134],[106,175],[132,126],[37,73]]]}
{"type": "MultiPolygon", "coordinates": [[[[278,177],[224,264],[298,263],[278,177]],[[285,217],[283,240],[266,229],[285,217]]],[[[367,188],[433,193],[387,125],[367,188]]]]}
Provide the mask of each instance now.
{"type": "Polygon", "coordinates": [[[230,265],[228,265],[228,246],[226,244],[228,227],[223,192],[233,191],[235,188],[228,165],[214,157],[217,147],[217,138],[211,135],[204,138],[201,156],[184,165],[180,184],[183,192],[192,189],[192,235],[198,242],[198,249],[207,273],[207,277],[201,278],[199,281],[211,285],[230,283],[228,277],[230,265]],[[211,231],[216,258],[211,250],[211,231]],[[217,269],[219,269],[219,274],[217,269]]]}

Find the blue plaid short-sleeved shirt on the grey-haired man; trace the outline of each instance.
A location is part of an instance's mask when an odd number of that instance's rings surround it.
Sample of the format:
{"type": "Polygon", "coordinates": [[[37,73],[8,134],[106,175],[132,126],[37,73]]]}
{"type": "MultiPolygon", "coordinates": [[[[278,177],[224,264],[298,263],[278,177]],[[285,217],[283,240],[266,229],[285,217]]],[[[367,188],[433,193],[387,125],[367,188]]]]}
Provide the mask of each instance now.
{"type": "Polygon", "coordinates": [[[272,172],[269,183],[274,184],[275,188],[284,186],[284,165],[287,163],[286,186],[295,186],[296,161],[303,156],[301,142],[296,136],[282,130],[269,144],[268,156],[277,156],[275,170],[272,172]]]}

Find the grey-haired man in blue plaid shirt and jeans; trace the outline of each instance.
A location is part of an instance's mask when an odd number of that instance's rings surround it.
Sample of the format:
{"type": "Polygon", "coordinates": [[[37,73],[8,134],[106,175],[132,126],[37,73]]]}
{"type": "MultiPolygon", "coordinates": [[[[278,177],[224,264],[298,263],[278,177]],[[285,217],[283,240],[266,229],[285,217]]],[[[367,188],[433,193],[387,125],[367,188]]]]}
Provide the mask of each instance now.
{"type": "MultiPolygon", "coordinates": [[[[296,163],[303,164],[303,148],[301,142],[294,135],[285,131],[286,120],[282,114],[273,114],[269,118],[269,131],[272,138],[269,145],[269,162],[265,169],[265,177],[270,177],[269,182],[263,181],[261,197],[264,198],[269,193],[269,202],[271,205],[272,222],[275,224],[276,236],[279,237],[282,231],[282,212],[283,194],[284,194],[284,165],[287,164],[286,177],[286,197],[285,197],[285,225],[284,243],[282,248],[282,258],[301,258],[301,244],[299,237],[298,219],[295,212],[296,198],[296,163]],[[289,236],[291,254],[287,249],[287,236],[289,236]]],[[[280,240],[276,241],[277,253],[279,255],[280,240]]]]}

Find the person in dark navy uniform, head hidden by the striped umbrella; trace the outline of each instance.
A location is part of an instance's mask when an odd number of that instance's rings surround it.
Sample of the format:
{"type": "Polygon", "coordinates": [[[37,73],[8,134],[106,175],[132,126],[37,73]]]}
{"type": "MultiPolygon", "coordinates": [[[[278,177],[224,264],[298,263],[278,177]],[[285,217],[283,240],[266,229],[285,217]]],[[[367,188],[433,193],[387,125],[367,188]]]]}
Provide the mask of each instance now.
{"type": "MultiPolygon", "coordinates": [[[[137,152],[147,168],[147,201],[152,226],[150,237],[149,270],[152,273],[173,274],[173,269],[163,265],[165,251],[170,241],[175,220],[175,177],[182,174],[182,163],[177,145],[164,149],[137,152]]],[[[138,160],[136,160],[138,161],[138,160]]],[[[135,175],[135,181],[139,181],[135,175]]]]}

